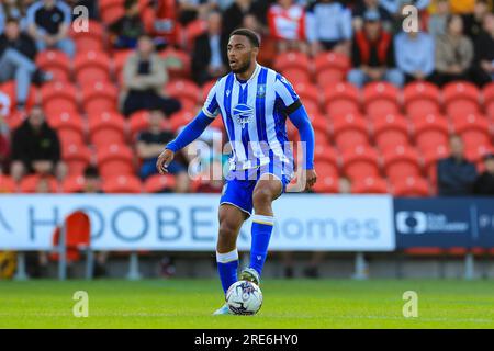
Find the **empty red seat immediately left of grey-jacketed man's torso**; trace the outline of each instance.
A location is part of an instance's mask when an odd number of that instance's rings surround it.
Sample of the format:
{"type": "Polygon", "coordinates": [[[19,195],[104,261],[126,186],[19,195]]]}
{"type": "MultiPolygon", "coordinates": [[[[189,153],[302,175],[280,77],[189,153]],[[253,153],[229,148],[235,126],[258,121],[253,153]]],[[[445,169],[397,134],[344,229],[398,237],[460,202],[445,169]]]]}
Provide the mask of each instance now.
{"type": "Polygon", "coordinates": [[[96,81],[110,81],[111,60],[104,52],[85,52],[74,59],[76,79],[82,87],[96,81]]]}

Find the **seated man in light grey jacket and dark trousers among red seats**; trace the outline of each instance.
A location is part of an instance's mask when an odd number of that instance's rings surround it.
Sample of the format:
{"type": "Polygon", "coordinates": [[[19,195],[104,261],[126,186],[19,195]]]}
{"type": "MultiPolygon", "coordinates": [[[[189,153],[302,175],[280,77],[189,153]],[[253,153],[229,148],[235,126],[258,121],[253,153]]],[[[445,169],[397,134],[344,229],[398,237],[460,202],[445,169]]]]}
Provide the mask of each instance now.
{"type": "Polygon", "coordinates": [[[167,98],[164,86],[168,81],[167,67],[155,52],[153,39],[142,35],[137,50],[127,58],[123,68],[122,112],[128,116],[139,110],[161,110],[170,115],[181,109],[180,102],[167,98]]]}

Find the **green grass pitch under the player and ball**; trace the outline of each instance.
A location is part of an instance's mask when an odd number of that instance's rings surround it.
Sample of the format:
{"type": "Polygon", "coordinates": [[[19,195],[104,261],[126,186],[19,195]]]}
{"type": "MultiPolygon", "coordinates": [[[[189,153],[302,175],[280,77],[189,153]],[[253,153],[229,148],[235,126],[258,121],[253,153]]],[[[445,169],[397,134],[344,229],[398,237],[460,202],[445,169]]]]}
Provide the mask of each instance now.
{"type": "Polygon", "coordinates": [[[211,316],[215,280],[0,282],[0,328],[494,328],[494,281],[267,280],[256,316],[211,316]],[[89,317],[76,318],[76,291],[89,317]],[[418,294],[404,318],[403,293],[418,294]]]}

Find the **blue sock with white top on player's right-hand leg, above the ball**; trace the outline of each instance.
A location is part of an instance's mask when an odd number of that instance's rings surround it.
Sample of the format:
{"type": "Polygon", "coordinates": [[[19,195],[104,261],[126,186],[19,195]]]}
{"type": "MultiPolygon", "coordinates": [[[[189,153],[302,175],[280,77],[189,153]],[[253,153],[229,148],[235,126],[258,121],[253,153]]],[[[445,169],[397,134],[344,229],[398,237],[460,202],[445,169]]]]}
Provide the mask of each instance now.
{"type": "Polygon", "coordinates": [[[252,244],[250,246],[250,268],[261,275],[268,256],[269,239],[271,238],[274,218],[272,216],[252,216],[252,244]]]}

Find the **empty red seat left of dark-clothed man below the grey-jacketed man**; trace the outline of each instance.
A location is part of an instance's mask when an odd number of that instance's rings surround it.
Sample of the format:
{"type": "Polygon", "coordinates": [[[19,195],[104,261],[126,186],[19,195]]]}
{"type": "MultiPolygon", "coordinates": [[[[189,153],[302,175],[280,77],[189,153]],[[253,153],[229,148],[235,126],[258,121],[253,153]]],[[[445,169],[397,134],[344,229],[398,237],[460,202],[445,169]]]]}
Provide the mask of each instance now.
{"type": "Polygon", "coordinates": [[[97,159],[103,178],[134,174],[134,154],[125,145],[101,145],[97,150],[97,159]]]}

